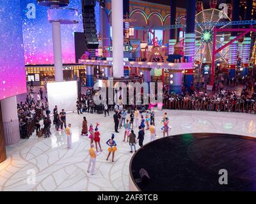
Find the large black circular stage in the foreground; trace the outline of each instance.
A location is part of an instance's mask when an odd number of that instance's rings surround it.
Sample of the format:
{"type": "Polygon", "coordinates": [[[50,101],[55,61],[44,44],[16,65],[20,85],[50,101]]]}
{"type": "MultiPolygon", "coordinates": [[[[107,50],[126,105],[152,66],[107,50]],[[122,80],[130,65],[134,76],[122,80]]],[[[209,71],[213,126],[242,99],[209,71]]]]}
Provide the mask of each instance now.
{"type": "Polygon", "coordinates": [[[130,175],[140,191],[256,191],[256,138],[219,133],[161,138],[134,154],[130,175]],[[149,182],[140,182],[141,168],[149,182]]]}

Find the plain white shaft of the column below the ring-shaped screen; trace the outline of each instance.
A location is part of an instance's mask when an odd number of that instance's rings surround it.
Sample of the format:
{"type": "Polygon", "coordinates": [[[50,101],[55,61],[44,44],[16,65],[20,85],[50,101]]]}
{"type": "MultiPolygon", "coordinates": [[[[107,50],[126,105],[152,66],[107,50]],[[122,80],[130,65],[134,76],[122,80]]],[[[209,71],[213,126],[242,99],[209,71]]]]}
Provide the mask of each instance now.
{"type": "MultiPolygon", "coordinates": [[[[58,5],[52,5],[52,8],[58,8],[58,7],[59,7],[58,5]]],[[[63,82],[60,21],[54,21],[51,24],[52,24],[52,44],[53,44],[53,54],[54,54],[55,82],[63,82]]]]}

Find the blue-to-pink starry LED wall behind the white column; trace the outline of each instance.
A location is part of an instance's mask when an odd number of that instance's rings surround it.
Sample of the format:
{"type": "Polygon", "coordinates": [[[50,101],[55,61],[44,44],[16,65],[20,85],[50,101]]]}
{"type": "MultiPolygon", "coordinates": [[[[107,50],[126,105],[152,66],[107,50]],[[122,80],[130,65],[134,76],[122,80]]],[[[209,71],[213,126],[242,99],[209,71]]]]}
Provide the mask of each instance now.
{"type": "MultiPolygon", "coordinates": [[[[22,10],[22,29],[26,64],[53,64],[52,26],[47,20],[49,8],[40,6],[36,0],[20,1],[22,10]]],[[[74,33],[83,32],[81,0],[70,0],[68,8],[78,10],[79,24],[61,25],[61,44],[63,63],[75,63],[74,33]]],[[[100,6],[95,6],[97,32],[100,26],[100,6]]]]}

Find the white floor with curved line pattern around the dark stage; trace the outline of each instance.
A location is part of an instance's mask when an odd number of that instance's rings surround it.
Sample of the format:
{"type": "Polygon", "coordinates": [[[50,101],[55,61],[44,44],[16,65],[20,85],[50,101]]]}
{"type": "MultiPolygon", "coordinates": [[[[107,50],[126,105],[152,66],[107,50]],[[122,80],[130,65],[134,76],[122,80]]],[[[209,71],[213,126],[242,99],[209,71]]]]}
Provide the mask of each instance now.
{"type": "MultiPolygon", "coordinates": [[[[232,133],[256,136],[256,115],[248,113],[221,113],[195,111],[167,111],[171,135],[181,133],[232,133]]],[[[156,113],[157,135],[162,136],[160,120],[164,112],[156,113]]],[[[116,135],[118,145],[115,163],[106,161],[106,141],[113,133],[113,113],[109,117],[98,114],[69,113],[72,123],[72,145],[68,150],[66,137],[52,127],[51,138],[37,138],[7,147],[8,159],[0,164],[1,191],[129,191],[129,144],[122,142],[124,129],[116,135]],[[88,167],[88,138],[82,138],[81,122],[86,116],[88,124],[100,123],[103,152],[97,157],[96,174],[86,172],[88,167]],[[33,182],[33,173],[35,182],[33,182]]],[[[136,135],[138,129],[135,128],[136,135]]],[[[146,132],[145,143],[149,141],[146,132]]]]}

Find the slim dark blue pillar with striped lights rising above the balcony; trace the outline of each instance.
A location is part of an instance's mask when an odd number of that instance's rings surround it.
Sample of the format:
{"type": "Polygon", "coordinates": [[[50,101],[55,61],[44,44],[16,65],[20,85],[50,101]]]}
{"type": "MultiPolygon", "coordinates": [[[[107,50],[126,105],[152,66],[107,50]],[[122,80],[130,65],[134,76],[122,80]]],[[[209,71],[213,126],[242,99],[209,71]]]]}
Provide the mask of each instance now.
{"type": "MultiPolygon", "coordinates": [[[[175,25],[176,24],[176,4],[175,4],[175,1],[171,1],[170,6],[171,6],[171,17],[170,17],[171,20],[170,20],[170,23],[171,23],[171,25],[175,25]]],[[[170,55],[173,55],[174,45],[176,43],[175,32],[176,32],[176,29],[170,29],[170,40],[169,40],[169,50],[168,50],[168,54],[170,54],[170,55]]]]}

